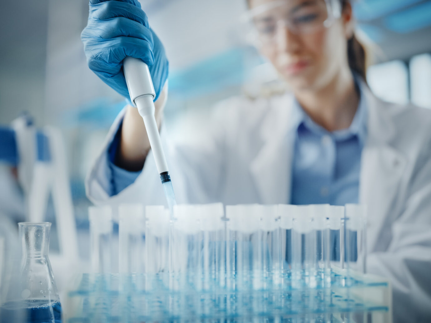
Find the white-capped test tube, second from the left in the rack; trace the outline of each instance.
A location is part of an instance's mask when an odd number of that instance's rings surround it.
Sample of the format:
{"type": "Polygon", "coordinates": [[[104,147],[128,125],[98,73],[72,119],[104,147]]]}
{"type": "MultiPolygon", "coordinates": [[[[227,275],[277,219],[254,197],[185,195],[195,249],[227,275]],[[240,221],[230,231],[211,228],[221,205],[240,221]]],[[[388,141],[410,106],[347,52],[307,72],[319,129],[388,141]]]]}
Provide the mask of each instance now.
{"type": "Polygon", "coordinates": [[[119,272],[144,273],[144,205],[119,206],[119,272]]]}

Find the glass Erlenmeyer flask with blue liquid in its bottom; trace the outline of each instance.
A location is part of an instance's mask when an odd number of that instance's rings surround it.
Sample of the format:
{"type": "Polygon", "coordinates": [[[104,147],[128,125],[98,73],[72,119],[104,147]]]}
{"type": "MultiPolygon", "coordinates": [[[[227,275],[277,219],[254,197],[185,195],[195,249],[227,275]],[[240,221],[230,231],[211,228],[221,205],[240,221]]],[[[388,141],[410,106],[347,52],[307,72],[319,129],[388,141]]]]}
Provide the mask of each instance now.
{"type": "Polygon", "coordinates": [[[6,303],[0,308],[0,323],[60,323],[61,305],[48,258],[49,222],[20,222],[21,270],[6,303]]]}

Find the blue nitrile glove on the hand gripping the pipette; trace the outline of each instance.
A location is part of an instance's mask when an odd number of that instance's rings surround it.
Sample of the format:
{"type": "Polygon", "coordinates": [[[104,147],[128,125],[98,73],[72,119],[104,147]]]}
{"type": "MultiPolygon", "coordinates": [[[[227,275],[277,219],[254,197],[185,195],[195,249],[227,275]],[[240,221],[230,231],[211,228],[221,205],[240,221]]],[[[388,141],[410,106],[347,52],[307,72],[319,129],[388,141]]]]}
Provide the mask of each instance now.
{"type": "Polygon", "coordinates": [[[81,33],[88,67],[130,102],[122,66],[127,56],[147,63],[156,98],[168,78],[169,62],[159,38],[137,0],[90,0],[87,27],[81,33]]]}

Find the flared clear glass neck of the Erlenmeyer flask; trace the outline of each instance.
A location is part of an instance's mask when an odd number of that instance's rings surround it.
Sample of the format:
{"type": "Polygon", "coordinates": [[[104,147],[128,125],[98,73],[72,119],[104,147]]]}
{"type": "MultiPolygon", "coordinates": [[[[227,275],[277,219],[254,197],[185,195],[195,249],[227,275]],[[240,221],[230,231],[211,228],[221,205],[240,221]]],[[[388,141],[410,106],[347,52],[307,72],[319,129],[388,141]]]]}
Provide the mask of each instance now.
{"type": "Polygon", "coordinates": [[[23,257],[47,257],[50,243],[50,228],[51,224],[49,222],[19,223],[19,237],[21,239],[23,257]]]}

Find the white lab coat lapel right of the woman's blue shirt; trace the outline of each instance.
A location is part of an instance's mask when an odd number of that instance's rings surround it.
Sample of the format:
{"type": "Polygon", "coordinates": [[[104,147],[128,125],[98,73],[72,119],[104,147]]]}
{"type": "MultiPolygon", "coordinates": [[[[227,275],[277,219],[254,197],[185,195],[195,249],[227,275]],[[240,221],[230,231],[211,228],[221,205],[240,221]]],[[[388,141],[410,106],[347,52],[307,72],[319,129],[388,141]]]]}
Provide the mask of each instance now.
{"type": "MultiPolygon", "coordinates": [[[[362,150],[359,202],[368,205],[368,250],[384,250],[378,239],[390,230],[381,230],[395,216],[397,190],[406,166],[406,158],[390,145],[395,127],[385,103],[362,84],[368,107],[368,135],[362,150]]],[[[398,201],[400,202],[400,201],[398,201]]],[[[390,241],[387,239],[386,241],[390,241]]]]}

